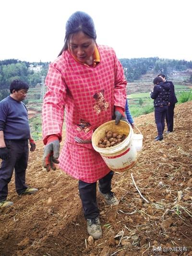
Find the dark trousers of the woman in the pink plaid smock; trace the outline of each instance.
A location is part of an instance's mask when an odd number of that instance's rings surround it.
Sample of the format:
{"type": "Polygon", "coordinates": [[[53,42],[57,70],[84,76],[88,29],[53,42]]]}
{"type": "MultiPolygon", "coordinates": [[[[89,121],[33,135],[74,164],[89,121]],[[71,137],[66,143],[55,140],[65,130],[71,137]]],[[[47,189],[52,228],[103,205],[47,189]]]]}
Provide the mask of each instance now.
{"type": "MultiPolygon", "coordinates": [[[[110,171],[105,177],[99,180],[99,190],[106,194],[111,191],[111,179],[114,172],[110,171]]],[[[96,182],[86,183],[79,181],[79,194],[84,209],[85,219],[93,219],[99,215],[96,203],[96,182]]]]}

